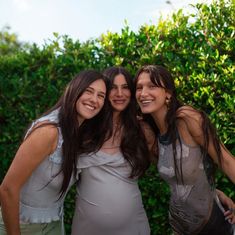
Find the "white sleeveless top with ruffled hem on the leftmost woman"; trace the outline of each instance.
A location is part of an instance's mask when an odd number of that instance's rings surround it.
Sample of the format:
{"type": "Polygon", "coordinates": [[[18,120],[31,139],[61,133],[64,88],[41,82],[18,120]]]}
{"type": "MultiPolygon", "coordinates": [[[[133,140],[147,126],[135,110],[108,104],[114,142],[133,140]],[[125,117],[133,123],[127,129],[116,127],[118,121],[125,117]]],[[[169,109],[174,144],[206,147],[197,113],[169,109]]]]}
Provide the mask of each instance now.
{"type": "MultiPolygon", "coordinates": [[[[58,123],[58,109],[33,122],[26,136],[39,122],[49,121],[58,123]]],[[[49,155],[32,173],[24,184],[20,195],[20,221],[21,223],[50,223],[63,220],[63,203],[65,195],[59,199],[62,185],[62,143],[63,137],[58,127],[58,143],[54,153],[49,155]]],[[[33,157],[33,156],[32,156],[33,157]]],[[[75,183],[71,177],[70,185],[75,183]]]]}

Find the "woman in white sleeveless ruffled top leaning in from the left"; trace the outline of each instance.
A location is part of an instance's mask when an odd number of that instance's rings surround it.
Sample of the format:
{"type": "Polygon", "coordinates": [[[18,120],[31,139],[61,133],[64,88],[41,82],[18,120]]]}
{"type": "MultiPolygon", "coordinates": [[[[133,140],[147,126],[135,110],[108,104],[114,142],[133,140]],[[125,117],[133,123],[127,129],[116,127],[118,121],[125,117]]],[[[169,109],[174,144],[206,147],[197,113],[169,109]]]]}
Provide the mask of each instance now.
{"type": "Polygon", "coordinates": [[[75,182],[77,152],[88,127],[102,118],[105,95],[103,75],[82,71],[33,122],[0,187],[1,235],[64,234],[63,202],[75,182]]]}

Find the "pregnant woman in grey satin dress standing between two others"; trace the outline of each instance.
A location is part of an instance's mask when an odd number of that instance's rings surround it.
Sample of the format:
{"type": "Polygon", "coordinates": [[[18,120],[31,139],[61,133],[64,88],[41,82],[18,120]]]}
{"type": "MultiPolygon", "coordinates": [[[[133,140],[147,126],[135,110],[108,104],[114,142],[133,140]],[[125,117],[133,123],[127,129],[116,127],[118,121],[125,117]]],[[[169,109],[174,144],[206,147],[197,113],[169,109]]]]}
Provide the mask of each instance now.
{"type": "Polygon", "coordinates": [[[79,156],[73,235],[150,235],[138,177],[149,165],[148,146],[136,119],[134,84],[122,67],[104,71],[109,107],[106,140],[79,156]]]}

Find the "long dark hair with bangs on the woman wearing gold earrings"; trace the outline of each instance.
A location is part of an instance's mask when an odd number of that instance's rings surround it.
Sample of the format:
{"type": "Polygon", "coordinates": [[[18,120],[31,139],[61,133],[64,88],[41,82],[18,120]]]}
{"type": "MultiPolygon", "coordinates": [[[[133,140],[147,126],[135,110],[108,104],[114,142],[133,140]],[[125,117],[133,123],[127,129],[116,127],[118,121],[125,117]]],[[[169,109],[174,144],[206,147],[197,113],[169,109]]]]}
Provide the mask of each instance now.
{"type": "MultiPolygon", "coordinates": [[[[182,143],[179,138],[178,130],[177,130],[177,121],[179,119],[182,119],[186,125],[187,121],[183,117],[178,116],[178,110],[180,107],[183,106],[183,104],[178,100],[177,98],[177,92],[174,84],[174,80],[171,76],[171,73],[163,66],[161,65],[145,65],[142,68],[140,68],[136,74],[135,77],[135,83],[137,82],[138,77],[141,73],[148,73],[150,76],[150,80],[153,84],[157,85],[158,87],[164,88],[167,92],[171,94],[171,99],[168,105],[167,114],[165,117],[165,123],[167,125],[167,136],[172,143],[173,147],[173,157],[174,157],[174,166],[175,166],[175,172],[176,172],[176,179],[179,181],[181,179],[181,182],[183,183],[183,170],[182,170],[182,143]],[[176,142],[180,143],[181,146],[181,157],[180,157],[180,166],[178,167],[178,164],[176,164],[176,142]]],[[[204,143],[202,146],[200,146],[202,151],[202,157],[203,160],[206,162],[210,162],[210,158],[208,158],[208,145],[209,145],[209,136],[212,136],[213,138],[213,145],[215,146],[217,157],[219,160],[219,165],[221,165],[221,148],[220,148],[220,141],[218,138],[218,135],[216,134],[216,130],[213,127],[212,123],[210,122],[208,116],[205,112],[200,110],[195,110],[195,112],[198,112],[202,118],[202,130],[203,130],[203,138],[204,143]]],[[[149,123],[149,125],[152,127],[153,131],[156,133],[157,136],[160,135],[160,131],[155,124],[152,116],[150,114],[142,114],[143,119],[149,123]]],[[[208,176],[209,181],[211,182],[211,177],[213,177],[213,173],[215,170],[215,164],[211,166],[211,176],[208,176]]]]}

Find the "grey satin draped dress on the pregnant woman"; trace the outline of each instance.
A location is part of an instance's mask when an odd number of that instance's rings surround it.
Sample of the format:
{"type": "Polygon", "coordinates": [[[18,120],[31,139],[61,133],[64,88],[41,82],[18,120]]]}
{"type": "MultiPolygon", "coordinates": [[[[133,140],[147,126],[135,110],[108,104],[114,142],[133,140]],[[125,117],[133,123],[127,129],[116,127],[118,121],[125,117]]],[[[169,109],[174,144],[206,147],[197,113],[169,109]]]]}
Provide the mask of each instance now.
{"type": "Polygon", "coordinates": [[[78,171],[72,235],[150,235],[137,179],[120,152],[82,155],[78,171]]]}

